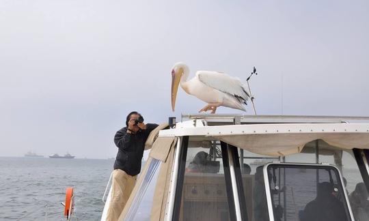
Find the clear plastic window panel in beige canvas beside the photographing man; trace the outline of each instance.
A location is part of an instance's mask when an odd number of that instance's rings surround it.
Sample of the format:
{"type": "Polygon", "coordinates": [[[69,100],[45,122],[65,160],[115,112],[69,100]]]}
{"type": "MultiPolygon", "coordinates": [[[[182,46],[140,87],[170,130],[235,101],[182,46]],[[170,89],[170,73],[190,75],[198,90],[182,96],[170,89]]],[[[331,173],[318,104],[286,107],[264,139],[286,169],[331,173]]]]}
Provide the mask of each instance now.
{"type": "Polygon", "coordinates": [[[132,206],[125,220],[150,220],[152,202],[154,201],[155,183],[159,174],[160,160],[151,158],[146,162],[149,164],[148,172],[144,175],[139,190],[133,199],[132,206]]]}

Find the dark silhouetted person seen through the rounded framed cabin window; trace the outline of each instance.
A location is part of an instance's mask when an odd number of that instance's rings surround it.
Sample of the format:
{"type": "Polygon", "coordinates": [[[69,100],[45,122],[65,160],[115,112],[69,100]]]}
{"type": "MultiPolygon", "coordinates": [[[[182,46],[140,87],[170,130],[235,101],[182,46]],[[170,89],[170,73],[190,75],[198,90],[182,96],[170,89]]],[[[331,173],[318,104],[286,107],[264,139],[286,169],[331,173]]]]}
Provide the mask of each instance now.
{"type": "Polygon", "coordinates": [[[343,203],[333,195],[333,184],[318,183],[316,198],[308,203],[301,214],[301,221],[346,221],[343,203]]]}

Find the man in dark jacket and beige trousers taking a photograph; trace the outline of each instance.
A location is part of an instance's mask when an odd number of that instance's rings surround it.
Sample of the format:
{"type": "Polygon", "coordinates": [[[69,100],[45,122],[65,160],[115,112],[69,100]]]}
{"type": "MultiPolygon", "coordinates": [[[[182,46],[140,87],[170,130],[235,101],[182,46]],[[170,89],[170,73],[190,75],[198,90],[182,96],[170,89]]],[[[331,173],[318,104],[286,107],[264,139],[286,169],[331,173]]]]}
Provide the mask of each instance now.
{"type": "Polygon", "coordinates": [[[114,162],[107,220],[116,221],[122,213],[135,186],[137,174],[141,171],[146,140],[157,126],[154,123],[143,123],[143,117],[133,111],[126,118],[126,127],[115,134],[114,143],[118,147],[118,153],[114,162]]]}

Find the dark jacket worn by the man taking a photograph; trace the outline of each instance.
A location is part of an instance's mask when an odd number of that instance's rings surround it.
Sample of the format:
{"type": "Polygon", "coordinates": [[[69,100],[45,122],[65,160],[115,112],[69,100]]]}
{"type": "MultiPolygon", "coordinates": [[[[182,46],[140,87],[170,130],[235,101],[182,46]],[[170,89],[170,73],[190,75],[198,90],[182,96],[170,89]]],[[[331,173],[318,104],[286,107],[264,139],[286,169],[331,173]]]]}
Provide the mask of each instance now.
{"type": "Polygon", "coordinates": [[[114,143],[118,147],[114,169],[121,169],[131,176],[139,174],[146,140],[157,126],[155,123],[148,123],[146,130],[139,130],[136,134],[128,134],[126,127],[118,130],[114,137],[114,143]]]}

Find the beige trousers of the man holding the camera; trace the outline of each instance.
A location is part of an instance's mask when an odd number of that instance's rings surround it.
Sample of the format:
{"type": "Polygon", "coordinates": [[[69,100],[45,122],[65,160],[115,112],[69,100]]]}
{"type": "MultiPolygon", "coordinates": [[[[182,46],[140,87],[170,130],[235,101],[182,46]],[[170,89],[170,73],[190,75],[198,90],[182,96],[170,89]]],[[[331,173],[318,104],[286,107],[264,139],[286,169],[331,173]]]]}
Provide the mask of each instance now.
{"type": "Polygon", "coordinates": [[[137,175],[131,176],[126,172],[116,169],[113,171],[111,183],[111,198],[107,211],[107,221],[117,221],[124,209],[129,196],[135,187],[137,175]]]}

